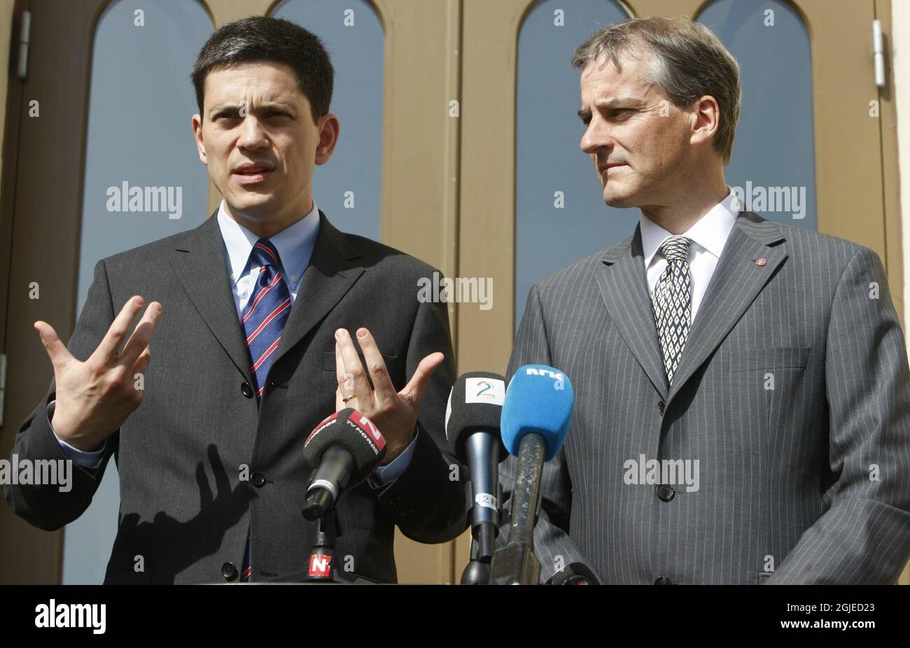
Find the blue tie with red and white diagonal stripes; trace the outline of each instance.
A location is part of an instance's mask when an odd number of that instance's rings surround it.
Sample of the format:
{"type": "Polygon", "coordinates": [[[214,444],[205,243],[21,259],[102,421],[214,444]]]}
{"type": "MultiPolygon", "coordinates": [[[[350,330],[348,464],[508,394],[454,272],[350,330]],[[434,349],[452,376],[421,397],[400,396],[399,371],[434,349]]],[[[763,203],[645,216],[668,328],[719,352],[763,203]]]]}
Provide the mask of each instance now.
{"type": "MultiPolygon", "coordinates": [[[[275,349],[278,349],[281,331],[290,315],[291,299],[288,285],[281,277],[278,250],[268,238],[256,241],[250,252],[250,262],[254,268],[259,268],[259,276],[240,322],[247,334],[247,351],[258,402],[265,390],[268,368],[275,357],[275,349]]],[[[241,573],[243,581],[248,581],[253,573],[249,533],[241,573]]]]}

